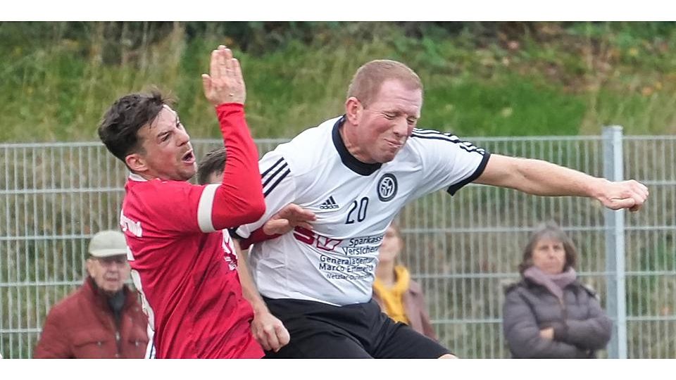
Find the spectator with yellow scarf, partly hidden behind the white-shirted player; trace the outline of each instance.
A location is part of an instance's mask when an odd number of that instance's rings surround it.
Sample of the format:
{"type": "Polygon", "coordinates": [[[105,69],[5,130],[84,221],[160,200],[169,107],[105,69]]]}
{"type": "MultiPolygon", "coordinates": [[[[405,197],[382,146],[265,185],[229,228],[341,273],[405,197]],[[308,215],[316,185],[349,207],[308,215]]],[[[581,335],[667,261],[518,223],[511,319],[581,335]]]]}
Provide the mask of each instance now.
{"type": "Polygon", "coordinates": [[[401,232],[393,223],[387,227],[378,251],[373,299],[396,322],[408,324],[413,330],[436,340],[422,286],[411,279],[406,267],[396,262],[402,249],[401,232]]]}

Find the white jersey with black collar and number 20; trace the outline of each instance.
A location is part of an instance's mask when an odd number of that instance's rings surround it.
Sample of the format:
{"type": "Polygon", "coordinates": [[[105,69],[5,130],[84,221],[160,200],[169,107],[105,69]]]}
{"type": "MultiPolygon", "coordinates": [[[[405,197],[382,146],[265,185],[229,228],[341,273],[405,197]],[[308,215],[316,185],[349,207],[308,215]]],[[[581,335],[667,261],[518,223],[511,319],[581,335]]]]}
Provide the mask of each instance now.
{"type": "Polygon", "coordinates": [[[243,238],[282,207],[313,211],[313,230],[296,228],[251,247],[258,291],[332,305],[368,302],[384,232],[413,199],[452,195],[481,175],[489,153],[453,134],[414,129],[394,160],[365,164],[347,151],[343,118],[307,129],[260,161],[265,215],[237,229],[243,238]]]}

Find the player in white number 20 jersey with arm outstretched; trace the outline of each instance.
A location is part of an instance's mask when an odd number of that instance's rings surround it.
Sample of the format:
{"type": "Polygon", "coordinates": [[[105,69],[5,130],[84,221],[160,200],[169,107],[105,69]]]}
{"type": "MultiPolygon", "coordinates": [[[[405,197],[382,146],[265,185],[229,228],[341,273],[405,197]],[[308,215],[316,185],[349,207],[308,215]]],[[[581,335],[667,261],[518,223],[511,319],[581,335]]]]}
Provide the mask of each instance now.
{"type": "Polygon", "coordinates": [[[423,84],[396,61],[371,61],[349,86],[345,114],[307,129],[260,161],[265,215],[237,229],[249,238],[282,207],[316,214],[250,252],[253,278],[290,342],[266,357],[453,357],[398,324],[371,299],[378,247],[403,205],[470,182],[539,196],[586,196],[638,210],[648,189],[542,160],[489,154],[449,133],[416,129],[423,84]]]}

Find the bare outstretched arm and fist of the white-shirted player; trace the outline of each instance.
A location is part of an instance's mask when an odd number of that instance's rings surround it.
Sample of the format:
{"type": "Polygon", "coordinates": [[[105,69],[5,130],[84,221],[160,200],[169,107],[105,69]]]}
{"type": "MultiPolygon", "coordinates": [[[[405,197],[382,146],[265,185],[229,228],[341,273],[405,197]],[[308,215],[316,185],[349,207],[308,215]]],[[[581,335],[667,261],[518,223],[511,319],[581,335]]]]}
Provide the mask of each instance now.
{"type": "Polygon", "coordinates": [[[611,182],[543,160],[493,154],[478,184],[517,189],[538,196],[586,196],[607,208],[637,211],[648,198],[648,188],[637,181],[611,182]]]}

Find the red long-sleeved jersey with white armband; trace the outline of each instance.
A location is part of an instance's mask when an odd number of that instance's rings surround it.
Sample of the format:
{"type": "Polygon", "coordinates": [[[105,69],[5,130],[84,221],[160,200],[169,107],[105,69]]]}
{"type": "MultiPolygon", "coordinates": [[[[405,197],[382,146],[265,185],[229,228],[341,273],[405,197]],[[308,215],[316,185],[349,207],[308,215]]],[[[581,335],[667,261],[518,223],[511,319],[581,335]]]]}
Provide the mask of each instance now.
{"type": "Polygon", "coordinates": [[[132,173],[125,185],[120,224],[149,317],[146,357],[263,357],[250,331],[253,310],[242,296],[237,256],[222,230],[262,214],[258,152],[242,106],[217,111],[227,149],[223,184],[132,173]]]}

